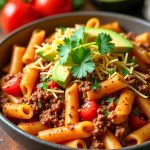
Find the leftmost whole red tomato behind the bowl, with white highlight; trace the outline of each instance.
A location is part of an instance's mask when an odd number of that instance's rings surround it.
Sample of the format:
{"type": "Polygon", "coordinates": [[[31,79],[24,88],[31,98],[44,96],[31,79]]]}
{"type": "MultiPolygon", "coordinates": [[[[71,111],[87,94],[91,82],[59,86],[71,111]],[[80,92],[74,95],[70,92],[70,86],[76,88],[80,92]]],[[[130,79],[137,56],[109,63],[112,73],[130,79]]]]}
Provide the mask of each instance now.
{"type": "Polygon", "coordinates": [[[11,32],[21,25],[36,20],[39,16],[32,4],[24,3],[23,0],[9,1],[1,11],[1,26],[4,31],[11,32]]]}

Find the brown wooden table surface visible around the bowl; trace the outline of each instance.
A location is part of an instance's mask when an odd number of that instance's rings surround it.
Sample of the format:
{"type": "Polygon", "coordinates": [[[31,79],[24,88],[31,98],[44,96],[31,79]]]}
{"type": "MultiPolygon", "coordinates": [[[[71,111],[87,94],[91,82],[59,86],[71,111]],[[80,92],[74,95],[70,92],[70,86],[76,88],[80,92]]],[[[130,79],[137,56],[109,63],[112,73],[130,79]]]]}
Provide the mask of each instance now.
{"type": "MultiPolygon", "coordinates": [[[[94,10],[96,9],[87,0],[83,10],[94,10]]],[[[3,33],[0,33],[0,39],[3,37],[3,33]]],[[[21,145],[17,144],[12,140],[6,132],[0,127],[0,150],[26,150],[21,145]]]]}

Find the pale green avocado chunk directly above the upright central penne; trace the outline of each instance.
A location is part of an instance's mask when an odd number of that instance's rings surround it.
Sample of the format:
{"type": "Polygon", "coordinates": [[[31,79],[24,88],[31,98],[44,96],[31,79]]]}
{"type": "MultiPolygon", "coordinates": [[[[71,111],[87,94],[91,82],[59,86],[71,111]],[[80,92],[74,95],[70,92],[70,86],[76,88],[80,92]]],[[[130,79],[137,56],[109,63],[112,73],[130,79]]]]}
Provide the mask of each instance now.
{"type": "Polygon", "coordinates": [[[72,79],[70,68],[70,66],[61,65],[59,62],[54,65],[52,79],[62,88],[66,88],[72,79]]]}

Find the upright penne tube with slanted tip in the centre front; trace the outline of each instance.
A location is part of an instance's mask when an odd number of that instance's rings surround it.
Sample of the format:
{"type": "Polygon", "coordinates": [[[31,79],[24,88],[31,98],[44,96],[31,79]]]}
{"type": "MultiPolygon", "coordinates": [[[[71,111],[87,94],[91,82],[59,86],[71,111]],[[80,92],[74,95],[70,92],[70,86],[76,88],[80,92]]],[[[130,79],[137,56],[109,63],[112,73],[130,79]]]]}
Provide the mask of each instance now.
{"type": "Polygon", "coordinates": [[[78,85],[74,83],[65,92],[65,125],[73,125],[79,121],[78,85]]]}

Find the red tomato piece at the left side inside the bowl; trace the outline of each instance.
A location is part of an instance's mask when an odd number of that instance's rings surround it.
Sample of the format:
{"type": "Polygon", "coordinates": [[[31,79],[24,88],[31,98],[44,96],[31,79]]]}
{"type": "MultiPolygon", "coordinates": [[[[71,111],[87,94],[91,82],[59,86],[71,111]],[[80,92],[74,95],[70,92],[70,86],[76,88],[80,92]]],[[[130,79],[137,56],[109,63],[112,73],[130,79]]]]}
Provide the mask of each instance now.
{"type": "Polygon", "coordinates": [[[13,77],[2,87],[3,91],[13,95],[13,96],[21,96],[21,88],[20,88],[20,79],[18,77],[13,77]]]}

